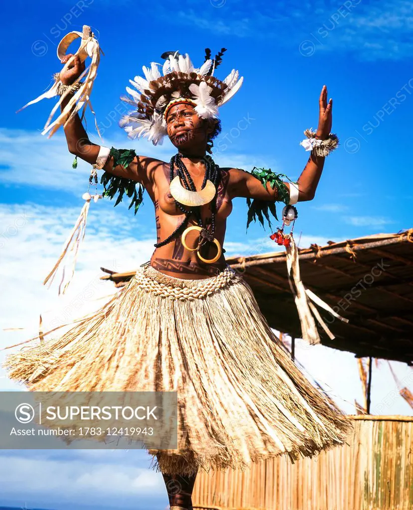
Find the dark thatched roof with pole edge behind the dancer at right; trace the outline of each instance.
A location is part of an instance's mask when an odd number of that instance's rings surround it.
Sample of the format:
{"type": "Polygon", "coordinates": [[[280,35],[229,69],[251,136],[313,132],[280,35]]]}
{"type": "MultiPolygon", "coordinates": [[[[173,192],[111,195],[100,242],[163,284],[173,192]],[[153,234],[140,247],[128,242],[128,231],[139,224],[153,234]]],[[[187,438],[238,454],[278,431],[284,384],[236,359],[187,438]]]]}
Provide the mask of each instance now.
{"type": "MultiPolygon", "coordinates": [[[[301,279],[348,323],[321,311],[335,335],[320,328],[324,345],[413,364],[413,229],[377,234],[299,250],[301,279]]],[[[291,293],[285,251],[226,259],[242,271],[271,327],[296,338],[300,322],[291,293]]],[[[103,279],[115,283],[130,273],[103,279]]]]}

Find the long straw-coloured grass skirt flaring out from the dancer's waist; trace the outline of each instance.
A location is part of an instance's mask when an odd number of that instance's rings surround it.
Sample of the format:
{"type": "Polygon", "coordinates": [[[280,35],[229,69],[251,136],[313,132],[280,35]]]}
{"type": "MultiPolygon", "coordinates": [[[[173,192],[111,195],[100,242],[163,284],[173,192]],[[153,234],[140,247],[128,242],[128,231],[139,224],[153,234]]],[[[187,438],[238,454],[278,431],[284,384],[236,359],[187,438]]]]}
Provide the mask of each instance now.
{"type": "Polygon", "coordinates": [[[178,448],[148,450],[172,475],[312,456],[342,444],[349,426],[229,266],[205,279],[141,268],[96,314],[4,367],[31,391],[177,391],[178,448]]]}

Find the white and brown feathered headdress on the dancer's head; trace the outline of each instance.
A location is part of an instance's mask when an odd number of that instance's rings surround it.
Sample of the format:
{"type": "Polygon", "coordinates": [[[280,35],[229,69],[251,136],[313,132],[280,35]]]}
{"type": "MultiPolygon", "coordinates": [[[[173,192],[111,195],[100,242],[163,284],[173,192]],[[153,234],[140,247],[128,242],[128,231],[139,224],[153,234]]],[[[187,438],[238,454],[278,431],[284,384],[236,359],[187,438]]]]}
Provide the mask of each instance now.
{"type": "Polygon", "coordinates": [[[165,52],[162,73],[156,62],[150,67],[143,66],[145,78],[136,76],[129,80],[135,87],[126,87],[129,96],[120,98],[127,104],[136,107],[123,115],[119,126],[128,134],[128,138],[144,137],[153,145],[162,144],[167,135],[166,113],[178,101],[191,100],[195,111],[201,118],[217,118],[218,107],[222,106],[241,87],[243,77],[233,69],[223,80],[214,77],[214,70],[221,63],[226,48],[211,59],[211,50],[205,49],[205,60],[201,67],[194,68],[189,55],[178,52],[165,52]]]}

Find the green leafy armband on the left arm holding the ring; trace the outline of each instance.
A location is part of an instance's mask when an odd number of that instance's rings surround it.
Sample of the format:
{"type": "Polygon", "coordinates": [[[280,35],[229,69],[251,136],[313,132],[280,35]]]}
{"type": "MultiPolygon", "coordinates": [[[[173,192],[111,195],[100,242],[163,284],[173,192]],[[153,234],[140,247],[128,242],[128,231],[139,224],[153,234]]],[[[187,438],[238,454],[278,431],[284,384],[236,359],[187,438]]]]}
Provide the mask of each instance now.
{"type": "MultiPolygon", "coordinates": [[[[113,157],[113,165],[122,165],[127,167],[137,157],[134,149],[115,149],[111,148],[109,156],[113,157]]],[[[108,172],[104,172],[100,179],[100,184],[103,185],[104,191],[102,196],[108,196],[111,200],[118,194],[115,205],[120,203],[123,199],[123,195],[131,198],[132,201],[128,209],[131,209],[135,205],[135,214],[138,212],[139,206],[143,201],[143,192],[145,188],[132,179],[125,179],[125,177],[118,177],[108,172]],[[137,189],[138,187],[138,189],[137,189]]]]}

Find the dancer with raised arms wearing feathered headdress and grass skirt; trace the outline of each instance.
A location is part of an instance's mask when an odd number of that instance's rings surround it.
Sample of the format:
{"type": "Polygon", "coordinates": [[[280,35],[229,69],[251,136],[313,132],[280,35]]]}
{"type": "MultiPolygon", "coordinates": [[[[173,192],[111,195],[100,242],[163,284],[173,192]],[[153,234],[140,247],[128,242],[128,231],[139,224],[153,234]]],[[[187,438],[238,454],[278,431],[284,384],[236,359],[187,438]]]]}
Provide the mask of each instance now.
{"type": "MultiPolygon", "coordinates": [[[[170,163],[132,155],[120,164],[119,151],[90,142],[77,115],[64,130],[72,154],[107,175],[139,183],[149,194],[158,236],[149,266],[92,319],[57,341],[9,356],[8,366],[10,377],[32,391],[177,391],[178,448],[149,453],[163,473],[171,510],[178,510],[192,507],[199,469],[245,468],[281,453],[311,456],[342,444],[347,424],[278,345],[251,289],[226,266],[221,249],[234,198],[270,203],[287,193],[290,203],[312,200],[325,157],[313,150],[295,187],[282,182],[264,187],[249,172],[220,169],[206,152],[220,131],[222,91],[234,94],[238,73],[220,82],[211,78],[211,59],[195,72],[189,57],[169,55],[166,61],[164,77],[146,70],[143,88],[139,77],[131,81],[141,95],[125,100],[138,114],[126,115],[121,124],[130,134],[145,132],[153,143],[167,134],[177,149],[170,163]],[[150,131],[154,125],[158,131],[150,131]],[[125,318],[121,325],[119,316],[125,318]],[[34,374],[31,360],[46,352],[55,354],[53,362],[34,374]]],[[[69,86],[83,70],[76,57],[60,80],[69,86]]],[[[67,102],[68,97],[62,110],[67,102]]],[[[331,141],[331,112],[324,86],[319,142],[313,140],[313,146],[331,141]]]]}

